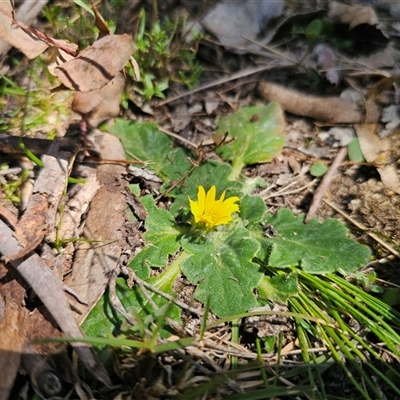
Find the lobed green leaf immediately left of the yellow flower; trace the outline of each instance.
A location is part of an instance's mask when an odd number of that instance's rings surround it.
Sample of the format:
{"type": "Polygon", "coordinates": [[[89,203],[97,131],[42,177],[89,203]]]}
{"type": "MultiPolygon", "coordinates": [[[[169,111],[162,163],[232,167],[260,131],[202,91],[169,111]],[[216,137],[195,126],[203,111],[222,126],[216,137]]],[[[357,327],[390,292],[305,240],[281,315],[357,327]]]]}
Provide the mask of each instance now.
{"type": "Polygon", "coordinates": [[[170,255],[180,248],[180,237],[188,228],[178,227],[174,217],[167,211],[157,208],[152,196],[143,197],[142,203],[148,212],[143,237],[146,247],[129,264],[135,272],[145,278],[149,266],[163,267],[167,265],[170,255]]]}

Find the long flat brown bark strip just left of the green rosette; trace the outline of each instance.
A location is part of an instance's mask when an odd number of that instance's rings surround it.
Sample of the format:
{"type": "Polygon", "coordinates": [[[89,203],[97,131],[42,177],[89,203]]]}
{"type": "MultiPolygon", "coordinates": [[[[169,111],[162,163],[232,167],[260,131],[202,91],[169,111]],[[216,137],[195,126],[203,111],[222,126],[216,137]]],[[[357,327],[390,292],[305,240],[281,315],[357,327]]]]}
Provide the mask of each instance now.
{"type": "MultiPolygon", "coordinates": [[[[124,159],[121,142],[115,136],[98,133],[94,139],[103,159],[124,159]]],[[[117,274],[119,258],[124,246],[125,187],[122,179],[126,168],[117,164],[98,166],[100,189],[94,197],[87,215],[83,238],[77,246],[72,273],[65,283],[89,304],[73,303],[80,313],[76,319],[82,323],[103,295],[110,278],[117,274]]]]}

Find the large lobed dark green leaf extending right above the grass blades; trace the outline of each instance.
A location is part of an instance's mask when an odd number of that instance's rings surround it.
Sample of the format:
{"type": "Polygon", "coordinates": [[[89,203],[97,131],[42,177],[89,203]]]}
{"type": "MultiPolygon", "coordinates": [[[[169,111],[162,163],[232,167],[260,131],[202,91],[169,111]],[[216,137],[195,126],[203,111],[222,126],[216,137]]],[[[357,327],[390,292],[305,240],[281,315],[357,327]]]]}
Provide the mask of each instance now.
{"type": "Polygon", "coordinates": [[[277,234],[265,238],[270,247],[268,263],[286,268],[300,265],[311,274],[340,272],[350,274],[365,265],[371,255],[367,246],[347,237],[347,229],[335,219],[322,224],[316,219],[304,223],[304,215],[295,217],[288,209],[267,218],[277,234]]]}

